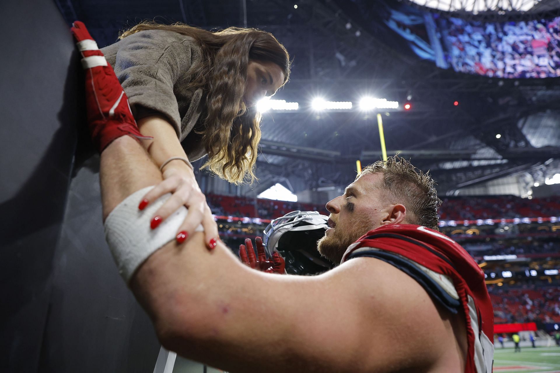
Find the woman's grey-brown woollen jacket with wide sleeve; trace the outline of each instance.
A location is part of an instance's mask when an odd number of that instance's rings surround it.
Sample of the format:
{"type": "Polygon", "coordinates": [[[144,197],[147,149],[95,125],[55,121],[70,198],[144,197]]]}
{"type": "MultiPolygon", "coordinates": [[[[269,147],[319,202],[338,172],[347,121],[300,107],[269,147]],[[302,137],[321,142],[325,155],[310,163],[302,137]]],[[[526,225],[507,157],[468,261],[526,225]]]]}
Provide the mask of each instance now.
{"type": "Polygon", "coordinates": [[[192,37],[164,30],[139,31],[102,48],[128,96],[136,120],[157,112],[167,117],[190,160],[206,155],[195,133],[202,89],[186,88],[200,48],[192,37]]]}

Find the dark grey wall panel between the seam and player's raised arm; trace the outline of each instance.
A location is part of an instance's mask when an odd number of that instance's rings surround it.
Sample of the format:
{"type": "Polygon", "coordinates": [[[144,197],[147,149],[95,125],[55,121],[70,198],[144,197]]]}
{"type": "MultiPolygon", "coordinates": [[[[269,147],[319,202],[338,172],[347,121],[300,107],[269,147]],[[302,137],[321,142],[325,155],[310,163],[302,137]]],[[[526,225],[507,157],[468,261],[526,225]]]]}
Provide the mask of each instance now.
{"type": "Polygon", "coordinates": [[[160,344],[106,247],[98,165],[90,158],[72,178],[40,371],[152,373],[160,344]]]}

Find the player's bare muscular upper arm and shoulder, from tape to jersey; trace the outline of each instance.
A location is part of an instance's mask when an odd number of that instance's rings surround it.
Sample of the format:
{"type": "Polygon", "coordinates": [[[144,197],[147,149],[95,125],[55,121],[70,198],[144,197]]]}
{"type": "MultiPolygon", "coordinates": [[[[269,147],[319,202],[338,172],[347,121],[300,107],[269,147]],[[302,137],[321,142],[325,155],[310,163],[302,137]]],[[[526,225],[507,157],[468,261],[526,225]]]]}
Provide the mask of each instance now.
{"type": "Polygon", "coordinates": [[[430,296],[373,258],[273,275],[196,233],[152,254],[131,287],[165,347],[231,372],[424,371],[449,347],[430,296]]]}

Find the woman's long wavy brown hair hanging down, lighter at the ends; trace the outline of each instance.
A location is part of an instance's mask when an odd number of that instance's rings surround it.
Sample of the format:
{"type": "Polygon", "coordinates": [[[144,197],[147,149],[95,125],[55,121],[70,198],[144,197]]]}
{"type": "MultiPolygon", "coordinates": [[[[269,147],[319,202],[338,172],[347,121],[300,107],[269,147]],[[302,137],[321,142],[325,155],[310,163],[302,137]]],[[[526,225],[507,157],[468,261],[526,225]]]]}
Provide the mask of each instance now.
{"type": "MultiPolygon", "coordinates": [[[[202,141],[208,153],[208,168],[232,182],[253,182],[260,141],[261,116],[247,109],[243,93],[249,60],[272,62],[282,68],[284,82],[290,77],[290,55],[269,32],[228,27],[211,32],[183,23],[162,25],[142,22],[120,34],[119,39],[144,30],[166,30],[193,37],[202,50],[202,63],[193,66],[188,88],[206,93],[206,117],[203,117],[202,141]]],[[[283,85],[282,84],[282,85],[283,85]]]]}

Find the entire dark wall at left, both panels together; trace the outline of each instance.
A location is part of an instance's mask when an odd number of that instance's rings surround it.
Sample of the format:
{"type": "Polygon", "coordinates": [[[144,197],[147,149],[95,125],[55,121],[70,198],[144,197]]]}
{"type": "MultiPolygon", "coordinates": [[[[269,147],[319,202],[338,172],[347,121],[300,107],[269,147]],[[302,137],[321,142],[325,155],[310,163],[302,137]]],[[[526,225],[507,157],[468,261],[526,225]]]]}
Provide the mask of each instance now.
{"type": "Polygon", "coordinates": [[[151,373],[160,345],[103,239],[98,159],[77,143],[68,25],[52,0],[0,14],[0,371],[151,373]]]}

